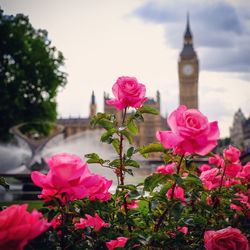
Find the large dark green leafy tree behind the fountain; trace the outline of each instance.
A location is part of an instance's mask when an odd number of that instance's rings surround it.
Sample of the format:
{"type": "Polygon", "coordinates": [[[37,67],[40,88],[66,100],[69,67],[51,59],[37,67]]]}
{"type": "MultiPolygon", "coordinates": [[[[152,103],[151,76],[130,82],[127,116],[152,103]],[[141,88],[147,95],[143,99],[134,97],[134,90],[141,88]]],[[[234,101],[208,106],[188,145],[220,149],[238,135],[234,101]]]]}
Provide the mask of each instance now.
{"type": "Polygon", "coordinates": [[[47,31],[33,28],[27,16],[0,9],[0,38],[0,140],[6,141],[16,124],[56,120],[55,97],[66,73],[47,31]]]}

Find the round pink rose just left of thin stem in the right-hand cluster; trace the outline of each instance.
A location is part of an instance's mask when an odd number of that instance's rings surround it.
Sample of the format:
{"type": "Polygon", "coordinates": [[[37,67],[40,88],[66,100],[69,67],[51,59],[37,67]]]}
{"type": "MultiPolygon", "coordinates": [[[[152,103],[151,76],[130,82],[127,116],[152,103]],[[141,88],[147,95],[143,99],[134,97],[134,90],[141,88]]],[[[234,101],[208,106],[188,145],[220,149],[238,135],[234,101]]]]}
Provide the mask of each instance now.
{"type": "Polygon", "coordinates": [[[219,169],[212,168],[207,171],[203,171],[200,175],[202,184],[208,190],[212,190],[220,186],[221,175],[219,175],[219,169]]]}

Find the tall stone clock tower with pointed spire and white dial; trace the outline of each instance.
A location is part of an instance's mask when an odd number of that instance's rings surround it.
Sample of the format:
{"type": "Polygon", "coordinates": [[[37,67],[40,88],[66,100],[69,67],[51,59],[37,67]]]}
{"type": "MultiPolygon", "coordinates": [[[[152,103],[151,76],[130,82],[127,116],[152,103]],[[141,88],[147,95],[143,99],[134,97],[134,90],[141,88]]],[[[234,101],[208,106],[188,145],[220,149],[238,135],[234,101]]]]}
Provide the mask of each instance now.
{"type": "Polygon", "coordinates": [[[178,62],[180,105],[198,109],[199,61],[193,48],[192,33],[187,16],[184,45],[178,62]]]}

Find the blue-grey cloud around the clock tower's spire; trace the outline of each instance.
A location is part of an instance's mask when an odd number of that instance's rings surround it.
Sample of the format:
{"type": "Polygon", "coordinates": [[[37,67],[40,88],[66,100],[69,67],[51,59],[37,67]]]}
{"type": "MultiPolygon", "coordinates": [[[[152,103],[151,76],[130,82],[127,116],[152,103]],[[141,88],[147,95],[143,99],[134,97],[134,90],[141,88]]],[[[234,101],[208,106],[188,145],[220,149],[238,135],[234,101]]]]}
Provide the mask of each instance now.
{"type": "Polygon", "coordinates": [[[201,69],[238,72],[242,79],[250,76],[250,8],[241,1],[153,1],[134,10],[133,15],[146,22],[165,27],[166,43],[181,49],[190,12],[191,30],[201,69]]]}

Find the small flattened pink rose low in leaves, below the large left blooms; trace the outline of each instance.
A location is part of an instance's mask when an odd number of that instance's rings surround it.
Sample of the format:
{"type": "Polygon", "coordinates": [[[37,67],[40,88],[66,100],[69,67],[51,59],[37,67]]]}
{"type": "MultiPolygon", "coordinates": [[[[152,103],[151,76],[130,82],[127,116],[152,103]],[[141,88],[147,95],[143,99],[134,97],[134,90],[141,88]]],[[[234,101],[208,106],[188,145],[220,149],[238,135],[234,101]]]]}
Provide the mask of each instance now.
{"type": "Polygon", "coordinates": [[[105,223],[98,214],[95,217],[86,214],[87,219],[80,218],[80,223],[76,223],[75,227],[78,229],[84,229],[86,227],[92,227],[96,232],[100,231],[102,227],[109,227],[108,223],[105,223]]]}

